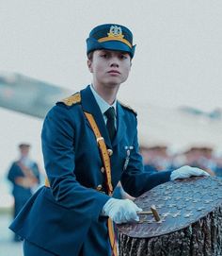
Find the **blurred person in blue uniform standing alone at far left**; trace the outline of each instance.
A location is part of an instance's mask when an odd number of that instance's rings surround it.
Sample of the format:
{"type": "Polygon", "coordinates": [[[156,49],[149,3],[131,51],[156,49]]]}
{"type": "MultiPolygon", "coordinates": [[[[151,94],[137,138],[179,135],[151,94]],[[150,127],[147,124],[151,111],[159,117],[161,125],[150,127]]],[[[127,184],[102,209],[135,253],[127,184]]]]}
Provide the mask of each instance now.
{"type": "MultiPolygon", "coordinates": [[[[33,195],[33,190],[40,183],[39,167],[29,158],[29,149],[28,144],[19,145],[20,159],[12,162],[8,171],[8,179],[13,185],[14,217],[21,211],[25,202],[33,195]]],[[[14,241],[21,241],[16,234],[14,241]]]]}

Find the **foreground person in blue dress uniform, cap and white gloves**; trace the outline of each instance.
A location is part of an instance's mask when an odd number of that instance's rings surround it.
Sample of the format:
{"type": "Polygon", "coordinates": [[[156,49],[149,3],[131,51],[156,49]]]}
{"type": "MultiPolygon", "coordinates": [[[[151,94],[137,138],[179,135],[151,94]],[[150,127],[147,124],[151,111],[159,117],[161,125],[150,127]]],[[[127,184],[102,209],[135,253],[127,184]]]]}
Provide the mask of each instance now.
{"type": "Polygon", "coordinates": [[[91,30],[92,83],[48,112],[41,134],[48,181],[10,226],[24,238],[24,256],[117,255],[110,219],[138,221],[142,210],[132,200],[112,197],[119,180],[128,194],[140,196],[170,177],[183,178],[180,170],[174,177],[143,172],[136,113],[117,100],[134,55],[127,27],[106,24],[91,30]]]}

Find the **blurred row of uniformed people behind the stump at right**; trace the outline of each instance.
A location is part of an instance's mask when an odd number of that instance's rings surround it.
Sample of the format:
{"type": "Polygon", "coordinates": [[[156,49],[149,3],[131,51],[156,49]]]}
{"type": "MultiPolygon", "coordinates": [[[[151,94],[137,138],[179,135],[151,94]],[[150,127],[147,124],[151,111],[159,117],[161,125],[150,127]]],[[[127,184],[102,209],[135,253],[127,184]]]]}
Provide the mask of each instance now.
{"type": "MultiPolygon", "coordinates": [[[[193,146],[176,153],[172,153],[167,145],[140,146],[140,153],[143,157],[144,171],[150,174],[189,165],[222,179],[222,157],[217,156],[214,148],[210,146],[193,146]]],[[[115,196],[132,198],[122,190],[120,183],[115,196]]]]}

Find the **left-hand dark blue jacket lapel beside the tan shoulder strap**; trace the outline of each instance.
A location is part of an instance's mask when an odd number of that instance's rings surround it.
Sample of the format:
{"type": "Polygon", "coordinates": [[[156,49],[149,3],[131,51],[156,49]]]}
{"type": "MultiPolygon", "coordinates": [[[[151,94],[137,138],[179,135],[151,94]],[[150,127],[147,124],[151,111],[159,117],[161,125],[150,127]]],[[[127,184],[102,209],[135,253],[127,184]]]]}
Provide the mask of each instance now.
{"type": "MultiPolygon", "coordinates": [[[[88,113],[91,113],[96,121],[96,124],[98,128],[100,129],[100,132],[103,136],[104,142],[107,145],[108,148],[112,148],[108,131],[105,127],[105,123],[103,120],[103,114],[95,100],[94,95],[92,94],[89,85],[87,86],[86,89],[82,90],[80,92],[81,94],[81,102],[82,102],[82,107],[83,111],[87,111],[88,113]]],[[[90,127],[90,125],[88,124],[90,127]]]]}

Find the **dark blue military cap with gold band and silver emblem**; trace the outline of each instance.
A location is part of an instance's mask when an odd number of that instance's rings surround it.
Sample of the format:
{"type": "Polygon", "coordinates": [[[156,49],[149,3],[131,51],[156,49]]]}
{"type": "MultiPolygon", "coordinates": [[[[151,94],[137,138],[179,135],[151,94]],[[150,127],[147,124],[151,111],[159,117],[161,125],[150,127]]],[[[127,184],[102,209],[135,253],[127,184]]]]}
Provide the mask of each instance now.
{"type": "Polygon", "coordinates": [[[117,24],[96,26],[87,38],[87,54],[100,49],[127,52],[133,58],[135,55],[133,34],[126,26],[117,24]]]}

